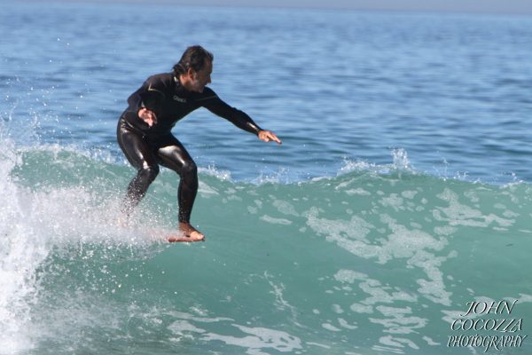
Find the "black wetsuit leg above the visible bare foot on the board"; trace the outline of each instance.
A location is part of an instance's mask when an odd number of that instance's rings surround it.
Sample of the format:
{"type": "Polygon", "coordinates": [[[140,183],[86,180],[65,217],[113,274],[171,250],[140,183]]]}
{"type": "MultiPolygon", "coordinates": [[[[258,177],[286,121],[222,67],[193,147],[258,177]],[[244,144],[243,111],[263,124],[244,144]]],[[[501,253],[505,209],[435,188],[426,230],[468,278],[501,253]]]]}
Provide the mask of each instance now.
{"type": "Polygon", "coordinates": [[[176,171],[180,181],[177,189],[179,222],[190,223],[192,207],[198,193],[198,168],[184,146],[173,135],[160,140],[157,155],[162,166],[176,171]]]}

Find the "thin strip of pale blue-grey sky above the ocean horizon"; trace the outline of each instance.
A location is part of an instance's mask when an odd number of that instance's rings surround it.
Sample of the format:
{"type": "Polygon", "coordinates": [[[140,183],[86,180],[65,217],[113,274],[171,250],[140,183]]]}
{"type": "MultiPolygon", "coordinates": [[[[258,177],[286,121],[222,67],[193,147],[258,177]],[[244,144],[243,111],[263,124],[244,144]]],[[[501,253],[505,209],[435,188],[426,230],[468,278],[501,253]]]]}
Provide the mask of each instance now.
{"type": "Polygon", "coordinates": [[[532,0],[63,0],[95,3],[331,8],[370,11],[532,14],[532,0]]]}

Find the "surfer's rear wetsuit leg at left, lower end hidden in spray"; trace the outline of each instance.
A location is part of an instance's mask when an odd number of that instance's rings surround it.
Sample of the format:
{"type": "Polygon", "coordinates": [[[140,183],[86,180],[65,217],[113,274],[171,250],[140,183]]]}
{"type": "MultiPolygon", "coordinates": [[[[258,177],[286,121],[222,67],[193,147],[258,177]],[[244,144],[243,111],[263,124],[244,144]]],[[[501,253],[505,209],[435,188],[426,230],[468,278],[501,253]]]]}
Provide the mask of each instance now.
{"type": "Polygon", "coordinates": [[[128,185],[126,197],[122,203],[122,212],[130,214],[138,202],[145,196],[153,180],[159,174],[157,157],[145,139],[125,122],[119,122],[117,130],[118,144],[128,158],[129,163],[137,169],[137,176],[128,185]]]}

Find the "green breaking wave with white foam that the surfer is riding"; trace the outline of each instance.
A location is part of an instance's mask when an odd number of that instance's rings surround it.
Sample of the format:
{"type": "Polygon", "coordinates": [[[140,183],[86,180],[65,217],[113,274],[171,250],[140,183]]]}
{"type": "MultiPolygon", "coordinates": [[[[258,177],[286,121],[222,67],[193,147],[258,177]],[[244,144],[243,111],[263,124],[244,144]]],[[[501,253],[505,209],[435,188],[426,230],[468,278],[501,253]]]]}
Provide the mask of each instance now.
{"type": "Polygon", "coordinates": [[[446,346],[466,302],[532,316],[525,183],[428,176],[404,152],[290,184],[201,170],[207,241],[168,245],[147,227],[175,227],[174,173],[121,227],[129,167],[2,146],[1,353],[471,353],[446,346]]]}

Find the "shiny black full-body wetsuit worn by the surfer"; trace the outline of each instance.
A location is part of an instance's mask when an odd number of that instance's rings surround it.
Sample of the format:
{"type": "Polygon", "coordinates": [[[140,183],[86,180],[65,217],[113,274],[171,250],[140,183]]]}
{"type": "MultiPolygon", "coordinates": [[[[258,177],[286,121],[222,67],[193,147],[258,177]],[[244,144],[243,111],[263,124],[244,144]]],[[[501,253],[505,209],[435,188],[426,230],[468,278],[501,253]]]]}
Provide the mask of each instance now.
{"type": "Polygon", "coordinates": [[[206,107],[242,130],[258,134],[261,128],[244,112],[227,105],[209,88],[203,92],[188,91],[175,73],[150,76],[128,99],[129,106],[118,122],[117,139],[128,161],[137,169],[123,204],[128,213],[144,197],[149,185],[159,174],[159,164],[176,171],[181,180],[177,190],[179,222],[190,222],[192,206],[198,191],[198,172],[192,157],[172,135],[177,121],[199,107],[206,107]],[[145,107],[157,116],[150,127],[138,111],[145,107]]]}

